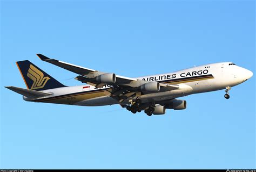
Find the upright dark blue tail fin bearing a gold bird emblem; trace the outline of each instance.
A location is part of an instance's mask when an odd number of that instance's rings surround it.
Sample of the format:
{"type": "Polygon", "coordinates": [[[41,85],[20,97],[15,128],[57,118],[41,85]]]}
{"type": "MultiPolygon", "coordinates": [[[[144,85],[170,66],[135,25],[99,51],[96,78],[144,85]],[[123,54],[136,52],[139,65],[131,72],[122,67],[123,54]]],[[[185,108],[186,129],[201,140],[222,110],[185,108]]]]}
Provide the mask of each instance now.
{"type": "Polygon", "coordinates": [[[16,64],[28,89],[39,91],[66,87],[28,60],[17,61],[16,64]]]}

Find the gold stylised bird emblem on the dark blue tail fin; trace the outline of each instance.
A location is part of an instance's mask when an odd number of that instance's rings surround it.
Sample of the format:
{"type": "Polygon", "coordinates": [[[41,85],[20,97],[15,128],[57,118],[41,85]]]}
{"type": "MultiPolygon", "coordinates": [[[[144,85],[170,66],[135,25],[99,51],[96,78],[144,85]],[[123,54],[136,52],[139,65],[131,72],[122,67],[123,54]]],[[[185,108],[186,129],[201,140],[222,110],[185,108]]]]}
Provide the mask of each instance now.
{"type": "Polygon", "coordinates": [[[35,66],[30,64],[28,74],[26,74],[32,81],[31,90],[44,88],[44,85],[50,78],[48,76],[44,77],[42,71],[38,70],[35,66]]]}

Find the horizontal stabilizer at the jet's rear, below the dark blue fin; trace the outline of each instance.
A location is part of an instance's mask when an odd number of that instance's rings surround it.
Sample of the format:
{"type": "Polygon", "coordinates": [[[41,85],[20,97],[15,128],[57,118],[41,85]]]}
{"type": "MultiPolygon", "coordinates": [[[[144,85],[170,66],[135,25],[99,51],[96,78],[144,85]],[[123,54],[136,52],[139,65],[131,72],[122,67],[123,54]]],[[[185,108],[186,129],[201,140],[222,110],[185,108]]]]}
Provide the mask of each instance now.
{"type": "Polygon", "coordinates": [[[31,97],[31,98],[45,97],[45,96],[51,95],[50,93],[46,93],[42,91],[28,90],[28,89],[19,88],[19,87],[13,87],[13,86],[7,86],[5,88],[8,88],[9,90],[17,92],[18,94],[21,94],[26,97],[31,97]]]}

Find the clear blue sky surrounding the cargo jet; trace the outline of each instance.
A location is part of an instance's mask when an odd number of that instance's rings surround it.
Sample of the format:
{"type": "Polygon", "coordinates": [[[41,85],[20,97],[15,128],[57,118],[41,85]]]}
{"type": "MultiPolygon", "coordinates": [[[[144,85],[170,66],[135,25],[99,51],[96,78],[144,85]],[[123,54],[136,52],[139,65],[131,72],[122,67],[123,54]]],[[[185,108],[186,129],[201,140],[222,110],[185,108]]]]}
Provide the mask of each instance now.
{"type": "Polygon", "coordinates": [[[254,1],[1,1],[0,168],[256,168],[255,74],[254,1]],[[224,61],[254,76],[148,117],[23,101],[4,88],[25,88],[16,61],[80,85],[36,53],[128,77],[224,61]]]}

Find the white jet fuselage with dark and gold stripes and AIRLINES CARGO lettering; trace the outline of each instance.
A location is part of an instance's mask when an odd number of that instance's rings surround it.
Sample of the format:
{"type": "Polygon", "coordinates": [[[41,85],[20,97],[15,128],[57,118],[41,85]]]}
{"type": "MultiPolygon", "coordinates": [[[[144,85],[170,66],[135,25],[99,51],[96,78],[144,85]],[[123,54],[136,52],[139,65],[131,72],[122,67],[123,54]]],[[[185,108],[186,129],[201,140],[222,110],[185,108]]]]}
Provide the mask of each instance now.
{"type": "MultiPolygon", "coordinates": [[[[165,84],[178,84],[180,87],[180,89],[177,90],[161,88],[159,92],[140,95],[142,102],[146,103],[233,87],[245,82],[248,78],[252,77],[252,75],[250,70],[236,66],[232,62],[223,62],[192,67],[168,74],[138,77],[137,79],[165,84]]],[[[109,87],[105,86],[97,89],[91,85],[79,85],[44,90],[44,92],[50,92],[52,95],[33,101],[82,106],[129,104],[128,101],[120,103],[116,99],[106,95],[105,90],[107,88],[109,87]]],[[[26,97],[24,97],[24,99],[31,101],[26,97]]]]}

